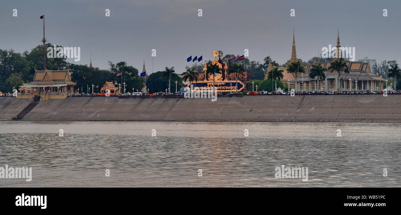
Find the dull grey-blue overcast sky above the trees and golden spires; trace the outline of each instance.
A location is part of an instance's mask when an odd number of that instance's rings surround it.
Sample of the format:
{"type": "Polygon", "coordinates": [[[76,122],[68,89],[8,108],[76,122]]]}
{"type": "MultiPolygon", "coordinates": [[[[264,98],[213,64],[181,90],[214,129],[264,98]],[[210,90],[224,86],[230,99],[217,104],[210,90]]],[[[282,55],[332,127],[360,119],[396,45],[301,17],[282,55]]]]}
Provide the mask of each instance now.
{"type": "Polygon", "coordinates": [[[355,47],[356,60],[401,62],[400,11],[399,0],[2,0],[0,49],[23,52],[41,44],[44,14],[50,43],[81,47],[78,64],[89,65],[92,52],[93,66],[102,69],[111,60],[141,71],[145,59],[152,72],[152,49],[154,72],[174,66],[181,73],[192,65],[188,56],[210,59],[215,49],[235,55],[248,49],[257,61],[270,52],[281,64],[291,57],[293,26],[302,60],[336,46],[338,28],[341,45],[355,47]]]}

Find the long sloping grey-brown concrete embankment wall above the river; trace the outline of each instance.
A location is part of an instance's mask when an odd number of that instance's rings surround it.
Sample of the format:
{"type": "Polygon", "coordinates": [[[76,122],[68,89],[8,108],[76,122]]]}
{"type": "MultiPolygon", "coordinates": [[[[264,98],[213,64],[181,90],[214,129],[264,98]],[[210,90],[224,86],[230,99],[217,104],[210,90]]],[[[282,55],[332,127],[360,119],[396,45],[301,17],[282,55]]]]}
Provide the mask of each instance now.
{"type": "MultiPolygon", "coordinates": [[[[1,120],[29,100],[0,98],[1,120]],[[3,113],[4,111],[4,113],[3,113]]],[[[401,122],[401,95],[69,97],[41,101],[22,120],[401,122]]]]}

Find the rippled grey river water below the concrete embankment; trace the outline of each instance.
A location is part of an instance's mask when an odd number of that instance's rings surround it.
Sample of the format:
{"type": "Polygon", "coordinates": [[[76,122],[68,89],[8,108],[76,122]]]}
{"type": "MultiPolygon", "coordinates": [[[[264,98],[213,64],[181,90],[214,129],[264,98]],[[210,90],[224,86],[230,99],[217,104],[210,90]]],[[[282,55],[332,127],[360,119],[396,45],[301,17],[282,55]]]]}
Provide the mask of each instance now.
{"type": "Polygon", "coordinates": [[[396,123],[0,121],[0,144],[0,167],[32,167],[0,187],[401,186],[396,123]]]}

